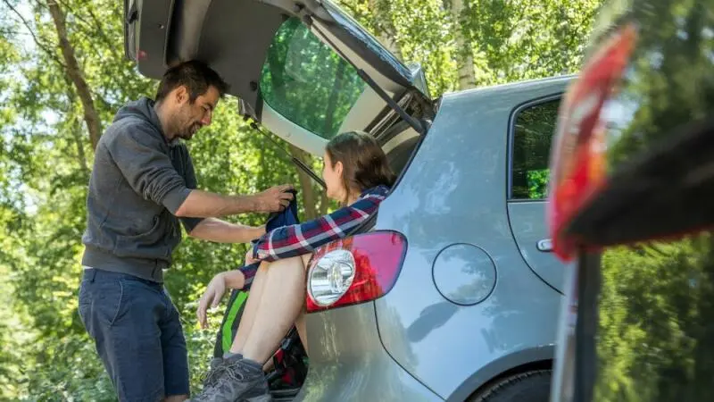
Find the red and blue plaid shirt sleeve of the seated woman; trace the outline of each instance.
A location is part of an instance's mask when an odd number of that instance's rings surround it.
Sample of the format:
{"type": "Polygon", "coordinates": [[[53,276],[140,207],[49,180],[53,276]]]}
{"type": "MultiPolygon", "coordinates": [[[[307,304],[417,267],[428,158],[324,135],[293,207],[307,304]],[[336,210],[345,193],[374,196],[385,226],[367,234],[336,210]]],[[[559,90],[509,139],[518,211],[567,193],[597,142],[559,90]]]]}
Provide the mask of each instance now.
{"type": "Polygon", "coordinates": [[[345,238],[349,230],[367,221],[377,211],[388,191],[386,186],[369,188],[352,205],[343,206],[332,214],[270,230],[253,245],[253,258],[275,261],[303,255],[330,241],[345,238]]]}

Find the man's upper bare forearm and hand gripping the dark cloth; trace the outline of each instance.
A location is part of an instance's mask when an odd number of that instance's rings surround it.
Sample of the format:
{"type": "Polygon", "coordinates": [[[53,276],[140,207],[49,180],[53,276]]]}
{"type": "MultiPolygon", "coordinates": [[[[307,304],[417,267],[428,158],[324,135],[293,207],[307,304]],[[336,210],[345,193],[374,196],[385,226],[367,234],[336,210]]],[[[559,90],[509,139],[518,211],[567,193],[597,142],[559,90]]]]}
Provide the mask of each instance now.
{"type": "Polygon", "coordinates": [[[282,211],[293,199],[293,194],[286,192],[289,188],[292,186],[275,186],[253,196],[223,196],[192,189],[174,214],[179,217],[211,218],[282,211]]]}

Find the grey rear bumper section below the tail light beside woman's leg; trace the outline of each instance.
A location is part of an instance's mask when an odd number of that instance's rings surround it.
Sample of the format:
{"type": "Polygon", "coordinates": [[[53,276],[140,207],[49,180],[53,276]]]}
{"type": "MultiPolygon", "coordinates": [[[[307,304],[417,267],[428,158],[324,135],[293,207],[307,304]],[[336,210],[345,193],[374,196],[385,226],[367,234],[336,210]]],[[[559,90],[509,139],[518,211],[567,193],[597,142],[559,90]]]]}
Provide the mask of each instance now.
{"type": "Polygon", "coordinates": [[[443,402],[386,353],[374,304],[306,317],[310,371],[295,402],[443,402]]]}

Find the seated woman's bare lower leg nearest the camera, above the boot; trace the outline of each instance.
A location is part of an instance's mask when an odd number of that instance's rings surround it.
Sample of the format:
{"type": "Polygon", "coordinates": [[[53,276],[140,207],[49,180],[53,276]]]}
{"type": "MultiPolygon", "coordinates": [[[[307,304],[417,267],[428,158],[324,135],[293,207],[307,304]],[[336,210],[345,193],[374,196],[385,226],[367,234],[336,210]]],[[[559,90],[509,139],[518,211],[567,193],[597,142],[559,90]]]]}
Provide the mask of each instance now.
{"type": "Polygon", "coordinates": [[[255,311],[253,328],[242,348],[243,356],[264,364],[295,324],[303,308],[304,298],[303,258],[297,256],[270,264],[262,288],[260,306],[255,311]]]}

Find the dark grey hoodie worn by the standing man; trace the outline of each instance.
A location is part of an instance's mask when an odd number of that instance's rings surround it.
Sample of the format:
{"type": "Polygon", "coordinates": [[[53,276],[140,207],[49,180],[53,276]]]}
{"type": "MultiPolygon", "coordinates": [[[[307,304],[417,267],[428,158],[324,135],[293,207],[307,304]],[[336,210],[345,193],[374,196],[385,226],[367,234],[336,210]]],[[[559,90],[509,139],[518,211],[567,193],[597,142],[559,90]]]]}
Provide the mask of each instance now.
{"type": "MultiPolygon", "coordinates": [[[[163,281],[181,240],[179,206],[196,188],[187,147],[163,136],[154,101],[120,109],[96,146],[82,264],[163,281]]],[[[187,231],[201,219],[182,218],[187,231]]]]}

